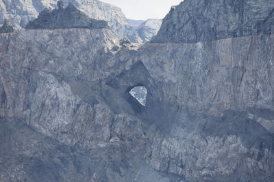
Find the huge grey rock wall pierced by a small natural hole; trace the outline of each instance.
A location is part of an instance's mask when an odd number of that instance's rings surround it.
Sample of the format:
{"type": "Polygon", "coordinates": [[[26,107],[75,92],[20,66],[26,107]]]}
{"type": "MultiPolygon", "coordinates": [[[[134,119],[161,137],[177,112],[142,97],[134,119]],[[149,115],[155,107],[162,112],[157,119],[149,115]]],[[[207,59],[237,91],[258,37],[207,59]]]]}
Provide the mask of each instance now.
{"type": "Polygon", "coordinates": [[[0,181],[273,181],[273,36],[1,33],[0,181]]]}

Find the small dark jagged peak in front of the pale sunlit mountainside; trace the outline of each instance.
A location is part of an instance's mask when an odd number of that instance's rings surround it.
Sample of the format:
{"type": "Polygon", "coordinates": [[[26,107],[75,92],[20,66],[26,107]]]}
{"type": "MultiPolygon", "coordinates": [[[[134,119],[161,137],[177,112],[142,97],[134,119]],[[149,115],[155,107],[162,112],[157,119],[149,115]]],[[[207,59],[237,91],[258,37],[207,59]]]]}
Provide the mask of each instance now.
{"type": "Polygon", "coordinates": [[[69,29],[69,28],[84,28],[84,29],[103,29],[109,28],[108,22],[105,20],[95,20],[84,14],[69,3],[64,8],[63,1],[58,1],[58,9],[49,10],[45,8],[40,12],[38,18],[29,21],[26,29],[69,29]]]}

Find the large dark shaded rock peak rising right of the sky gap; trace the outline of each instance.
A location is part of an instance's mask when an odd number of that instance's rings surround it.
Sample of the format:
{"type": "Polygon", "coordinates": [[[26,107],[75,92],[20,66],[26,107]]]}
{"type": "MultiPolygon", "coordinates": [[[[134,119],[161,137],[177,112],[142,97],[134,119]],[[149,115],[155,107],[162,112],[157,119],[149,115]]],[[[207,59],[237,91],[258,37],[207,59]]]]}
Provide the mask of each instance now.
{"type": "Polygon", "coordinates": [[[185,0],[163,20],[151,42],[206,42],[269,34],[274,30],[273,0],[185,0]]]}

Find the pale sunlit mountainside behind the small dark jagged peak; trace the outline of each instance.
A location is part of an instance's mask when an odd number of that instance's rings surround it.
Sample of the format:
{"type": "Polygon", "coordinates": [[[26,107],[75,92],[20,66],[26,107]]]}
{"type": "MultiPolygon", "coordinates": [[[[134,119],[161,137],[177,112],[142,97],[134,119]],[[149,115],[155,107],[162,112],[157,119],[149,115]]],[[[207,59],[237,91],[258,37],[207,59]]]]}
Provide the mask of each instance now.
{"type": "MultiPolygon", "coordinates": [[[[58,0],[3,0],[0,2],[0,23],[3,22],[4,18],[7,18],[9,20],[13,20],[16,24],[21,25],[21,27],[25,27],[29,20],[34,20],[37,18],[38,14],[46,7],[49,10],[56,8],[57,2],[58,0]]],[[[94,18],[96,20],[106,20],[116,35],[119,37],[124,37],[127,19],[119,7],[97,0],[64,0],[64,5],[68,5],[69,2],[73,3],[73,5],[90,16],[90,18],[94,18]]]]}

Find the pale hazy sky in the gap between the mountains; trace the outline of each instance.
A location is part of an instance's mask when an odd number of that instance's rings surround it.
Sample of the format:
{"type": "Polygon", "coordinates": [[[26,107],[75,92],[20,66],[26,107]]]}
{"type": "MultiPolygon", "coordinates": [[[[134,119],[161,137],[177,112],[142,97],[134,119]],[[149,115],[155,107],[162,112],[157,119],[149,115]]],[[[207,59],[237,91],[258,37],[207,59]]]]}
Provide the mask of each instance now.
{"type": "Polygon", "coordinates": [[[122,8],[129,19],[147,20],[147,18],[164,18],[172,5],[182,0],[101,0],[122,8]]]}

